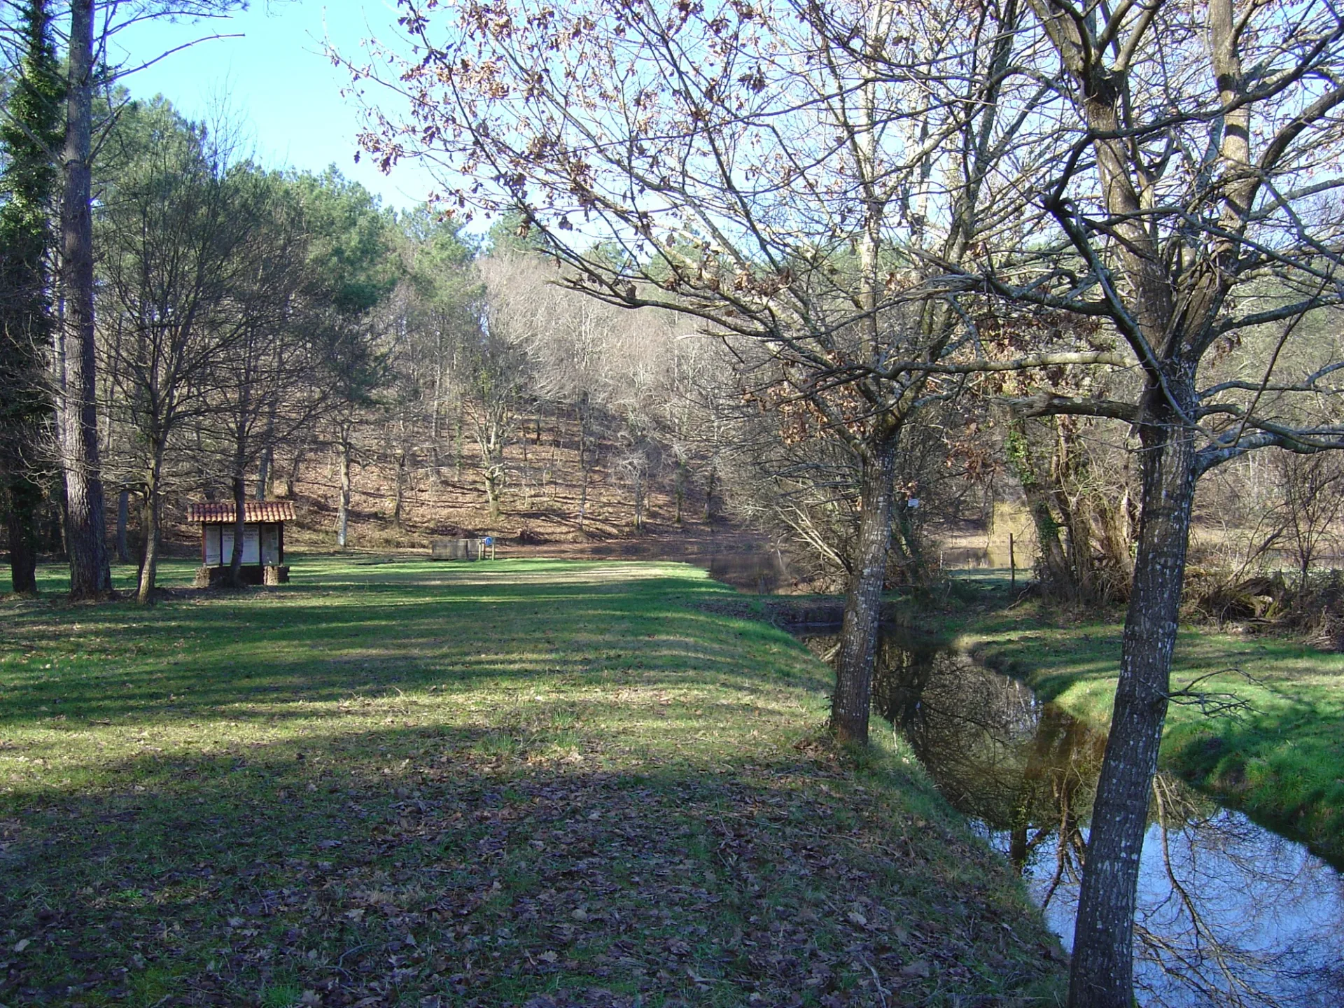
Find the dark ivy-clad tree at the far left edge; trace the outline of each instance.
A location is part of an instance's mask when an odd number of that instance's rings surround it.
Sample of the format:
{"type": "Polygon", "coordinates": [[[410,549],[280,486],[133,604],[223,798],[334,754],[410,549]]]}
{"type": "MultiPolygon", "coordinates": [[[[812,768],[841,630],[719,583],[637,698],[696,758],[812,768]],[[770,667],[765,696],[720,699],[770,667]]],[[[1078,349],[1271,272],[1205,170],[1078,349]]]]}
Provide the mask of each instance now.
{"type": "Polygon", "coordinates": [[[23,48],[0,118],[0,495],[13,590],[36,591],[39,454],[51,418],[52,195],[65,89],[47,0],[20,9],[23,48]]]}

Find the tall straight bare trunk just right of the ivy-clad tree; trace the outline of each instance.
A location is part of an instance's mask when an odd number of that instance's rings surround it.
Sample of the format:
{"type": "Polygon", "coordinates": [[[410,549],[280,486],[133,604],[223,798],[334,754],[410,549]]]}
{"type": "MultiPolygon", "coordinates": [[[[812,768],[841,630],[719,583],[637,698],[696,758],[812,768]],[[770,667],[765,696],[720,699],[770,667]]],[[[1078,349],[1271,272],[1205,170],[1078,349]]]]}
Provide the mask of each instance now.
{"type": "Polygon", "coordinates": [[[112,594],[98,462],[93,328],[93,0],[70,4],[70,69],[60,202],[60,453],[66,481],[70,597],[112,594]]]}

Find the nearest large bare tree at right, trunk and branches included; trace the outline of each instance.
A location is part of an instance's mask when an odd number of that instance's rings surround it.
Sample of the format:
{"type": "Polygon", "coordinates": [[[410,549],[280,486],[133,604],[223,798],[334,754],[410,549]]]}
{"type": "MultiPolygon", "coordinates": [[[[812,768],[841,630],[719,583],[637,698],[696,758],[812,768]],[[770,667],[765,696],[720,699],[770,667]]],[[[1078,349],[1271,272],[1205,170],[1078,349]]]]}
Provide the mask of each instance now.
{"type": "Polygon", "coordinates": [[[1302,320],[1344,296],[1344,17],[1310,0],[1030,3],[1052,51],[1034,67],[1052,90],[1036,137],[1048,169],[1017,211],[1035,239],[977,257],[968,281],[1073,316],[1075,332],[1091,325],[1141,379],[1133,395],[1046,383],[1017,401],[1027,415],[1120,419],[1137,434],[1134,578],[1070,982],[1075,1008],[1121,1008],[1195,482],[1253,449],[1313,453],[1344,433],[1320,409],[1339,395],[1337,341],[1292,352],[1302,320]],[[1249,374],[1212,374],[1265,331],[1249,374]]]}

